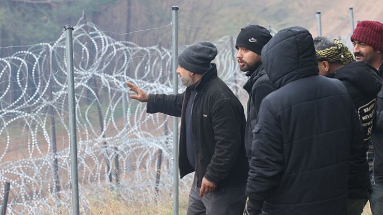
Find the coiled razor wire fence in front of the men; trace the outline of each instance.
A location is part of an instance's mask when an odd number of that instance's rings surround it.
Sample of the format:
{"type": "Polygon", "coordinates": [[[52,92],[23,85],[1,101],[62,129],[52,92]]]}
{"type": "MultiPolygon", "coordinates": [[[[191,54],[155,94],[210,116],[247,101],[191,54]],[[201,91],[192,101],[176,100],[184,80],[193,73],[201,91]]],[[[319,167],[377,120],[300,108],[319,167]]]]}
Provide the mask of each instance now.
{"type": "MultiPolygon", "coordinates": [[[[131,100],[123,87],[130,81],[148,93],[172,93],[171,49],[139,47],[105,33],[92,23],[73,30],[79,203],[85,213],[86,193],[104,184],[126,201],[153,201],[155,187],[172,189],[172,120],[147,114],[145,104],[131,100]]],[[[219,77],[245,103],[246,76],[238,72],[231,43],[230,37],[215,42],[215,63],[219,77]]],[[[70,213],[65,37],[21,47],[26,50],[0,58],[0,182],[11,183],[7,212],[70,213]]]]}

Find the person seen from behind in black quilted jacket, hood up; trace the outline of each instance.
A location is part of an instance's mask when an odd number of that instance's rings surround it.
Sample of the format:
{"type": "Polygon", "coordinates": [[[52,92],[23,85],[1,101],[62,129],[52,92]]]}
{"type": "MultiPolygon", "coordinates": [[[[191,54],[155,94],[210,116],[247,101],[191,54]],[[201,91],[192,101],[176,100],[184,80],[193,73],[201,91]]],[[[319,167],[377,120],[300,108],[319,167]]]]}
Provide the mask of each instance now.
{"type": "Polygon", "coordinates": [[[347,214],[349,168],[365,162],[345,86],[318,76],[313,39],[279,31],[262,50],[276,91],[260,104],[246,195],[249,214],[347,214]]]}

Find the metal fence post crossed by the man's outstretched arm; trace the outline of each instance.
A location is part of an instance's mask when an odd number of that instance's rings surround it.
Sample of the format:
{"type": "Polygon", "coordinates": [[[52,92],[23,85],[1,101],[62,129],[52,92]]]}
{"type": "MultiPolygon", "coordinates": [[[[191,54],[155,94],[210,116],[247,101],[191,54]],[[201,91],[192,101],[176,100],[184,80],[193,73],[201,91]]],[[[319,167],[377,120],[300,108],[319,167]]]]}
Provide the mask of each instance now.
{"type": "MultiPolygon", "coordinates": [[[[178,93],[177,57],[178,57],[178,6],[172,7],[173,24],[173,94],[178,93]]],[[[178,215],[178,117],[173,117],[173,214],[178,215]]]]}

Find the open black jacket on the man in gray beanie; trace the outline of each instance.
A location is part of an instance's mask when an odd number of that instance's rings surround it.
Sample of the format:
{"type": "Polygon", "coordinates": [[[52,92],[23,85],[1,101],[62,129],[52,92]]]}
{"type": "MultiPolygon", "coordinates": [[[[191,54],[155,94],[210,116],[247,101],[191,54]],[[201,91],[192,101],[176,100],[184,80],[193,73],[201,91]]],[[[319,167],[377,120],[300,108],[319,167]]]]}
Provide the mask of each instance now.
{"type": "MultiPolygon", "coordinates": [[[[195,87],[192,131],[195,149],[195,177],[200,187],[203,177],[217,188],[246,183],[248,161],[244,135],[244,108],[226,83],[218,78],[216,66],[207,71],[195,87]]],[[[149,95],[147,113],[181,117],[179,134],[180,177],[194,171],[186,154],[185,109],[190,89],[178,95],[149,95]]]]}

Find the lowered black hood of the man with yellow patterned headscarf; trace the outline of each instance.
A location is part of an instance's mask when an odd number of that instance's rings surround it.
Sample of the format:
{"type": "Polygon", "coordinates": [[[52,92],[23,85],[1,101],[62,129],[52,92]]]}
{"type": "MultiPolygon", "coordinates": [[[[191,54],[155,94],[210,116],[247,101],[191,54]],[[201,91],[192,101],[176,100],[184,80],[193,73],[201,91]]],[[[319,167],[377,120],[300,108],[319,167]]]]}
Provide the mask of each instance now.
{"type": "Polygon", "coordinates": [[[348,63],[335,72],[335,78],[351,82],[366,95],[377,94],[382,85],[377,70],[364,61],[348,63]]]}

